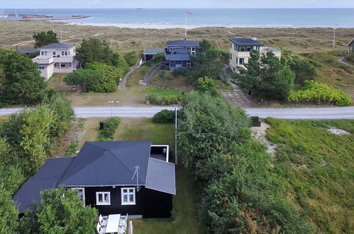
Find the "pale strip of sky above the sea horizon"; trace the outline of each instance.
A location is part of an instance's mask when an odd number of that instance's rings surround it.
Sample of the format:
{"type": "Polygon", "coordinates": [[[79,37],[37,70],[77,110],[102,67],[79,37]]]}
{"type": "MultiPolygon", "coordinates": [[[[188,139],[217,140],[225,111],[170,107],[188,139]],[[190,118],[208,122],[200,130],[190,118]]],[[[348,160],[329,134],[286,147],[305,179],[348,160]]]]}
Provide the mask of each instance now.
{"type": "Polygon", "coordinates": [[[28,8],[354,8],[353,0],[0,0],[0,9],[28,8]]]}

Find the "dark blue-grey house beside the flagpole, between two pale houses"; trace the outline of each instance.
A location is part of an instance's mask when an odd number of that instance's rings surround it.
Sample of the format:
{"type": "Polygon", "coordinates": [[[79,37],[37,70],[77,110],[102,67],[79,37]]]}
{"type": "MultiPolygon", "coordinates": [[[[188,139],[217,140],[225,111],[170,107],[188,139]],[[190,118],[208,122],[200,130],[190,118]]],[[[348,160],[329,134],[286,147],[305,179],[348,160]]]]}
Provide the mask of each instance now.
{"type": "Polygon", "coordinates": [[[165,52],[165,60],[170,71],[185,69],[193,65],[191,57],[197,57],[199,42],[194,40],[173,40],[166,42],[165,49],[145,49],[143,62],[155,57],[157,53],[165,52]]]}

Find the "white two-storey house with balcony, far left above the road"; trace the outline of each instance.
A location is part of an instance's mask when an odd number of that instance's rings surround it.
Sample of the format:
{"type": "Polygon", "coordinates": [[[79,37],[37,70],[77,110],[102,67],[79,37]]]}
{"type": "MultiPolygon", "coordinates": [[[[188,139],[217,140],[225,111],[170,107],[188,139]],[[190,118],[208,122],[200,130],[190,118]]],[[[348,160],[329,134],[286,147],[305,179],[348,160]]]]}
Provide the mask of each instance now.
{"type": "Polygon", "coordinates": [[[48,80],[53,73],[70,73],[77,69],[76,46],[67,43],[52,43],[40,48],[40,54],[33,58],[38,63],[40,74],[48,80]]]}

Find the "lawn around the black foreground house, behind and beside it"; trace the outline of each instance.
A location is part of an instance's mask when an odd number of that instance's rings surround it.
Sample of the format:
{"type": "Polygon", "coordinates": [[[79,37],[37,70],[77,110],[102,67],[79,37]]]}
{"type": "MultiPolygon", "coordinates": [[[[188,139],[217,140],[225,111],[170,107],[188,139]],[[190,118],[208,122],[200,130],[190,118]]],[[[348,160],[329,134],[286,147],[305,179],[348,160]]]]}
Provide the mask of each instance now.
{"type": "MultiPolygon", "coordinates": [[[[80,141],[96,140],[99,121],[104,118],[88,118],[84,123],[86,134],[80,141]]],[[[153,144],[169,144],[170,155],[174,155],[174,124],[153,123],[150,118],[121,118],[114,140],[151,140],[153,144]]],[[[171,159],[170,157],[170,159],[171,159]]],[[[173,159],[172,159],[173,160],[173,159]]],[[[176,167],[177,195],[173,198],[174,218],[133,219],[135,234],[199,233],[199,223],[193,202],[194,186],[182,165],[176,167]]]]}

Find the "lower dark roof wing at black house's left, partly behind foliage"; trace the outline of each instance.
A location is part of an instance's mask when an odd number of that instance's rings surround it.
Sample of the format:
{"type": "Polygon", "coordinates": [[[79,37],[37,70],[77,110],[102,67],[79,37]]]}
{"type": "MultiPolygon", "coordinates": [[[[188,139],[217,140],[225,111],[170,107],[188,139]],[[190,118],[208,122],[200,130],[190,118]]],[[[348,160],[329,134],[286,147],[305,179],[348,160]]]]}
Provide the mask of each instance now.
{"type": "Polygon", "coordinates": [[[33,203],[40,203],[40,191],[55,188],[72,160],[74,157],[56,157],[47,160],[37,174],[28,179],[13,196],[13,201],[18,203],[18,211],[24,213],[28,208],[34,211],[33,203]]]}

